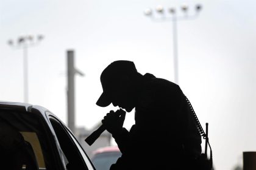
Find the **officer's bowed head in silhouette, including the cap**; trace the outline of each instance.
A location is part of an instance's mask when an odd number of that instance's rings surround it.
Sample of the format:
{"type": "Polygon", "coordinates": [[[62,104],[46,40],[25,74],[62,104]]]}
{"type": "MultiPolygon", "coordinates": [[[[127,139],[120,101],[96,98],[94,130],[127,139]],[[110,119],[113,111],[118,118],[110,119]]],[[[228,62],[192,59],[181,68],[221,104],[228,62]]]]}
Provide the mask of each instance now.
{"type": "Polygon", "coordinates": [[[112,103],[130,112],[135,107],[133,78],[137,75],[132,61],[119,60],[109,64],[101,73],[103,93],[96,104],[106,107],[112,103]]]}

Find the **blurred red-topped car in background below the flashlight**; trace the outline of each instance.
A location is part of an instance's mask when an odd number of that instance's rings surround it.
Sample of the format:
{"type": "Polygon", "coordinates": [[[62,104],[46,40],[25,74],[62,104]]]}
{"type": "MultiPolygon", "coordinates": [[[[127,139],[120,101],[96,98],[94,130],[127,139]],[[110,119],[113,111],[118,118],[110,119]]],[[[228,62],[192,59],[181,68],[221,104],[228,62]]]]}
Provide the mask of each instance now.
{"type": "Polygon", "coordinates": [[[105,146],[93,151],[91,161],[97,170],[108,170],[121,155],[118,146],[105,146]]]}

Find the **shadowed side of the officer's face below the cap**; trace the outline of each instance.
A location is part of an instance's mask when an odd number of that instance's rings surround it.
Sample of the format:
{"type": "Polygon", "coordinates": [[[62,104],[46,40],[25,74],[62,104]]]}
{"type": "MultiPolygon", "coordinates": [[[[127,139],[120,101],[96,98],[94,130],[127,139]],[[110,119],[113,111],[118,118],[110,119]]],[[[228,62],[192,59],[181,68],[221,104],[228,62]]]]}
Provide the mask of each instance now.
{"type": "Polygon", "coordinates": [[[135,107],[135,86],[132,81],[121,80],[112,91],[113,106],[121,107],[126,112],[131,112],[135,107]]]}

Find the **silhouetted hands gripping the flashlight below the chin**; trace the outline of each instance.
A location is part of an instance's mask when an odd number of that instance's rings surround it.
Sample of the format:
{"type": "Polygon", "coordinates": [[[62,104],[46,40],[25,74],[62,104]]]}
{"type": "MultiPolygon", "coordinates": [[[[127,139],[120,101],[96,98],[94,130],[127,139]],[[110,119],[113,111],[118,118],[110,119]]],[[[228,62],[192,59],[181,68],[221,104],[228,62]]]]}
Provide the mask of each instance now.
{"type": "Polygon", "coordinates": [[[126,112],[124,110],[119,109],[116,112],[110,110],[101,122],[110,134],[116,135],[121,132],[125,118],[126,112]]]}

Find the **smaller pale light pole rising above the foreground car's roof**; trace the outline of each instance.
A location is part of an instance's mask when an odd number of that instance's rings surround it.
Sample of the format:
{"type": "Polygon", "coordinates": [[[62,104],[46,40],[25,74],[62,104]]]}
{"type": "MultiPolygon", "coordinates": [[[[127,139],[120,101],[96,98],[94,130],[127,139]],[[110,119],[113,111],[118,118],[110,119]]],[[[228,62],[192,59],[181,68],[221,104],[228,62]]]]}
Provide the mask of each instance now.
{"type": "Polygon", "coordinates": [[[28,77],[28,56],[27,50],[29,47],[37,45],[42,39],[43,35],[32,35],[18,37],[16,43],[13,39],[9,39],[8,44],[15,49],[23,49],[23,77],[24,77],[24,103],[29,102],[29,77],[28,77]]]}

